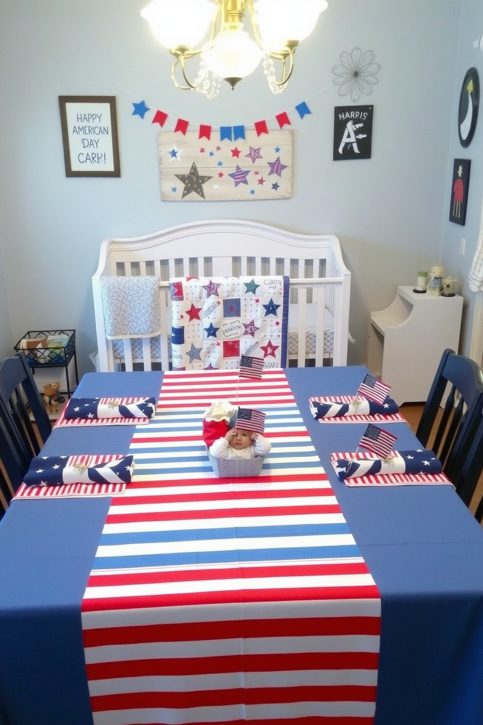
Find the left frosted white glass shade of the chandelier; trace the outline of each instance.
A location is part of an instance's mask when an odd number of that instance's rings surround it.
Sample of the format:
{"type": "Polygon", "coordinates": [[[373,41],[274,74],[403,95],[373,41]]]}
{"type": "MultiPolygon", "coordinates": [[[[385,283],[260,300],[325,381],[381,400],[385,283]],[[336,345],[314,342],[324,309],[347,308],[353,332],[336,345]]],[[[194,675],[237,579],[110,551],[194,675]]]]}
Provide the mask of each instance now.
{"type": "Polygon", "coordinates": [[[217,7],[209,0],[153,0],[140,12],[162,46],[193,48],[206,35],[217,7]]]}

